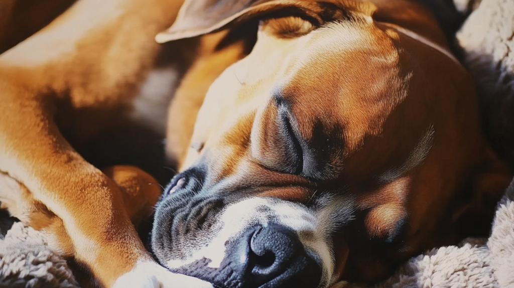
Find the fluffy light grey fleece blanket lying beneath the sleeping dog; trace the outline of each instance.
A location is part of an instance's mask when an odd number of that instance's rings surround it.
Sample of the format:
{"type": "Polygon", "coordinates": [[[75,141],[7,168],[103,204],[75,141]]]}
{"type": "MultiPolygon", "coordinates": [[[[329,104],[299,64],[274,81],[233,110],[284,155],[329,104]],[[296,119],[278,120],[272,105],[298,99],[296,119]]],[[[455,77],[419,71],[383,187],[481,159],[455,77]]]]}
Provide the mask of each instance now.
{"type": "MultiPolygon", "coordinates": [[[[464,14],[472,11],[456,42],[478,83],[488,136],[502,156],[514,160],[514,0],[454,3],[464,14]]],[[[14,223],[5,235],[5,223],[0,214],[0,287],[78,287],[42,233],[14,223]]],[[[412,258],[376,285],[386,287],[514,287],[514,181],[498,204],[488,239],[466,239],[412,258]]]]}

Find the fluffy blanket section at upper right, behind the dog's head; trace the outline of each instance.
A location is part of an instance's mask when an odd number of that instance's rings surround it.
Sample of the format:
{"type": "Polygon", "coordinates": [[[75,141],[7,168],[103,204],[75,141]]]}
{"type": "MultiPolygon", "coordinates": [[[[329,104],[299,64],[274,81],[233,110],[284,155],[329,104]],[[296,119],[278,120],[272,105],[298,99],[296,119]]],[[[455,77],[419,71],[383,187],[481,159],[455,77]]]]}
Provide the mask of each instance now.
{"type": "MultiPolygon", "coordinates": [[[[466,0],[455,1],[464,6],[466,0]]],[[[458,31],[457,41],[478,84],[487,136],[514,163],[514,1],[481,2],[458,31]]]]}

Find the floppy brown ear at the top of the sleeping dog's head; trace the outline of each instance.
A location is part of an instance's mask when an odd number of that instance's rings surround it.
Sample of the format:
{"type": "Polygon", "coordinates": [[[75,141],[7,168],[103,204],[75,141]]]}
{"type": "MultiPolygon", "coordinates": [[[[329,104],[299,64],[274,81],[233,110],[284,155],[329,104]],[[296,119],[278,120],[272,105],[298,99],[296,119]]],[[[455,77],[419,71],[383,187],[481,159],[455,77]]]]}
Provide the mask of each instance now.
{"type": "Polygon", "coordinates": [[[157,34],[158,43],[215,32],[250,18],[297,16],[316,27],[351,18],[352,12],[372,16],[371,2],[348,0],[186,0],[175,23],[157,34]]]}

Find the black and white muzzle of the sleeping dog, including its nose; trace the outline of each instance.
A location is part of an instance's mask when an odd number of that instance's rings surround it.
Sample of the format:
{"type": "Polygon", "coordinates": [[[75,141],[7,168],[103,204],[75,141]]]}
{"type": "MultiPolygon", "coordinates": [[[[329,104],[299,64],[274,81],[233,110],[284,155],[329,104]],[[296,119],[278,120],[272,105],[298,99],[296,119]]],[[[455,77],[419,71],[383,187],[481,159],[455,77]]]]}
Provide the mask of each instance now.
{"type": "Polygon", "coordinates": [[[152,250],[163,266],[223,288],[320,285],[322,265],[298,229],[265,205],[208,197],[191,180],[172,181],[156,210],[152,250]]]}

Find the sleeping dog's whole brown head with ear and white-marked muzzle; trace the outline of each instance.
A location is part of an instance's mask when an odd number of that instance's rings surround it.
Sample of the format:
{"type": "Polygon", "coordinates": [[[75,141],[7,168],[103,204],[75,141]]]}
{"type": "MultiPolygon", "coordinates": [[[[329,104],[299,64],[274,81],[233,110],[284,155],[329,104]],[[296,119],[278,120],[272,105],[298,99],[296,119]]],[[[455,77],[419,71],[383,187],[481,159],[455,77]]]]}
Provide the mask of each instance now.
{"type": "Polygon", "coordinates": [[[260,26],[211,85],[159,202],[162,265],[227,288],[327,287],[447,240],[485,159],[478,104],[431,16],[388,3],[182,7],[158,40],[260,26]]]}

